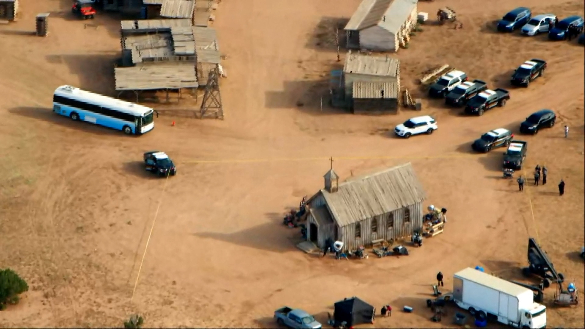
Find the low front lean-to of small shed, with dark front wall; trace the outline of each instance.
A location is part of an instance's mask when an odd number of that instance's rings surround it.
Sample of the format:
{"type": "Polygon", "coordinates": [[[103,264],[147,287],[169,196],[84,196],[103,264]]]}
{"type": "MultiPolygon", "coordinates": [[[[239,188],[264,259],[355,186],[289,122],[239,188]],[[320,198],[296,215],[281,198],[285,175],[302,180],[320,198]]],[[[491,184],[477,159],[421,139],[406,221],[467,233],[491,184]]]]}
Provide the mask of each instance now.
{"type": "Polygon", "coordinates": [[[398,110],[398,85],[355,81],[353,113],[396,112],[398,110]]]}

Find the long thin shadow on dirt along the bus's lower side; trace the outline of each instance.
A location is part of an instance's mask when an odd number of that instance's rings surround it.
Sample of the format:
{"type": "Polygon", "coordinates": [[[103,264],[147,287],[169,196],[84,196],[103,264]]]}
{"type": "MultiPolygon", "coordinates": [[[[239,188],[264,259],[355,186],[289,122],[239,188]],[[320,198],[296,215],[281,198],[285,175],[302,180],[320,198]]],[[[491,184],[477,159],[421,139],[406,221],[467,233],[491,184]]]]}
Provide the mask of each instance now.
{"type": "Polygon", "coordinates": [[[42,107],[16,107],[8,110],[11,114],[25,116],[27,118],[36,119],[49,124],[57,124],[64,128],[77,129],[79,131],[91,132],[96,135],[104,136],[125,136],[121,131],[111,129],[104,126],[98,126],[90,124],[88,122],[78,121],[75,122],[67,116],[54,114],[49,108],[42,107]]]}

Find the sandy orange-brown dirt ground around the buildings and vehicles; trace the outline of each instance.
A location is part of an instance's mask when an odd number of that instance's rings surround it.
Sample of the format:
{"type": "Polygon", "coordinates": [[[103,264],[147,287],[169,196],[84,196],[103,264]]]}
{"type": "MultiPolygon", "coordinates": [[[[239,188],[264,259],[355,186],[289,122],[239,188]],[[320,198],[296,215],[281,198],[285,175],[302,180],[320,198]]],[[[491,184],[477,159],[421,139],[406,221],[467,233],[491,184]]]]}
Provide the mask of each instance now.
{"type": "MultiPolygon", "coordinates": [[[[584,13],[582,1],[530,3],[535,13],[584,13]]],[[[148,327],[273,327],[278,307],[301,307],[325,322],[332,304],[349,296],[394,307],[377,327],[450,326],[429,321],[424,307],[436,272],[445,274],[446,290],[467,266],[524,280],[528,237],[585,289],[577,256],[585,240],[583,47],[493,32],[493,20],[526,2],[421,2],[419,11],[431,17],[450,6],[464,27],[425,26],[400,50],[402,83],[413,94],[425,70],[445,63],[505,88],[524,60],[542,58],[549,68],[528,89],[510,88],[505,108],[481,117],[425,98],[423,112],[440,129],[400,140],[388,130],[418,113],[356,116],[319,107],[319,80],[339,63],[331,36],[318,26],[349,18],[358,4],[223,0],[214,27],[228,56],[225,120],[165,112],[154,131],[128,138],[51,113],[61,84],[116,95],[119,18],[100,14],[97,28],[84,28],[70,17],[68,0],[22,2],[20,20],[0,26],[0,268],[15,269],[30,291],[0,312],[0,327],[119,327],[132,313],[143,314],[148,327]],[[29,33],[39,12],[51,12],[46,38],[29,33]],[[519,193],[514,181],[500,178],[500,150],[474,155],[469,145],[490,129],[517,132],[541,108],[554,109],[557,124],[521,138],[529,143],[526,168],[547,166],[549,183],[529,181],[519,193]],[[177,177],[143,173],[142,152],[152,149],[176,160],[177,177]],[[322,186],[329,156],[342,179],[412,162],[428,191],[425,206],[449,210],[445,233],[400,259],[346,262],[302,253],[299,232],[281,218],[322,186]],[[398,311],[404,305],[414,313],[398,311]]],[[[582,328],[583,307],[555,309],[553,291],[546,290],[549,327],[582,328]]]]}

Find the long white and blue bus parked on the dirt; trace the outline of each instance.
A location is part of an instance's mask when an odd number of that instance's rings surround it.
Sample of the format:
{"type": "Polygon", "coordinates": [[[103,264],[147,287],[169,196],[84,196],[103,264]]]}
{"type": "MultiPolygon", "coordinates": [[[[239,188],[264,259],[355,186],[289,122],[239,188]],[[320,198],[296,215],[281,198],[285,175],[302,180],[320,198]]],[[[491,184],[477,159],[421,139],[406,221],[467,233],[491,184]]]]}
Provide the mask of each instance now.
{"type": "Polygon", "coordinates": [[[53,112],[74,121],[82,120],[118,129],[127,135],[142,135],[154,128],[156,111],[70,85],[61,85],[53,94],[53,112]]]}

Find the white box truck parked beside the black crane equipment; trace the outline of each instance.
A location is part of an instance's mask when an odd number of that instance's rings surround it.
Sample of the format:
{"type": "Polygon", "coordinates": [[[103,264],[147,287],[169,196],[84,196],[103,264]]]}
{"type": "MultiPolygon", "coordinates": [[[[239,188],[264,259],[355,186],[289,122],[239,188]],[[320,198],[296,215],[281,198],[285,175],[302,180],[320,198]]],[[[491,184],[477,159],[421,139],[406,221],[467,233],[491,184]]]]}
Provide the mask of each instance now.
{"type": "Polygon", "coordinates": [[[534,302],[532,290],[480,270],[466,268],[453,275],[453,301],[474,316],[515,328],[546,327],[546,307],[534,302]]]}

